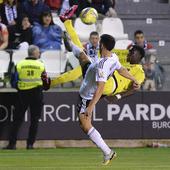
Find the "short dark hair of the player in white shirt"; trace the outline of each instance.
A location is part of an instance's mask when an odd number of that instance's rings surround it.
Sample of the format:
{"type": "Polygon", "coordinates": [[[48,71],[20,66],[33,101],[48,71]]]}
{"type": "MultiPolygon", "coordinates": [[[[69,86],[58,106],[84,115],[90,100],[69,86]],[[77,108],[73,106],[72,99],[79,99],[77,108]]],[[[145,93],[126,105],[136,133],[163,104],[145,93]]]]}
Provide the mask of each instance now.
{"type": "Polygon", "coordinates": [[[111,51],[115,47],[115,39],[111,35],[103,34],[100,36],[100,44],[103,44],[107,50],[111,51]]]}

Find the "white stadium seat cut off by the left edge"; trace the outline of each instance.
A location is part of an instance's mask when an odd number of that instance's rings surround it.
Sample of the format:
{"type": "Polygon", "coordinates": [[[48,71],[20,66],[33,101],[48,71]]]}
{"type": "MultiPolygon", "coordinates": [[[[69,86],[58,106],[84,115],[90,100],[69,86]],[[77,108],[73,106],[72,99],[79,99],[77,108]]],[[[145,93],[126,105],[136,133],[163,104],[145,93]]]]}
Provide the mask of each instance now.
{"type": "Polygon", "coordinates": [[[5,51],[0,51],[0,79],[4,79],[4,73],[8,72],[10,55],[5,51]]]}

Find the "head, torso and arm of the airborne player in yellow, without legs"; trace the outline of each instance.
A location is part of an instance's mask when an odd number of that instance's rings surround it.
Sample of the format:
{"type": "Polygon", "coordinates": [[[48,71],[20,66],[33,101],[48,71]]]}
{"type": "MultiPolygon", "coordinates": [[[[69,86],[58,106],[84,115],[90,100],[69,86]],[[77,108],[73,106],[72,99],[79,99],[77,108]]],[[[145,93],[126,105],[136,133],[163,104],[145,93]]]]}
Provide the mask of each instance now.
{"type": "MultiPolygon", "coordinates": [[[[142,65],[140,64],[141,59],[144,57],[145,52],[144,49],[134,45],[129,49],[129,53],[127,55],[127,62],[130,64],[126,66],[131,75],[135,77],[137,82],[141,85],[145,79],[145,73],[143,71],[142,65]]],[[[133,94],[136,90],[131,81],[119,75],[116,71],[113,74],[113,77],[108,80],[105,84],[105,89],[103,95],[107,95],[110,97],[106,97],[107,99],[121,99],[122,97],[129,96],[133,94]]]]}

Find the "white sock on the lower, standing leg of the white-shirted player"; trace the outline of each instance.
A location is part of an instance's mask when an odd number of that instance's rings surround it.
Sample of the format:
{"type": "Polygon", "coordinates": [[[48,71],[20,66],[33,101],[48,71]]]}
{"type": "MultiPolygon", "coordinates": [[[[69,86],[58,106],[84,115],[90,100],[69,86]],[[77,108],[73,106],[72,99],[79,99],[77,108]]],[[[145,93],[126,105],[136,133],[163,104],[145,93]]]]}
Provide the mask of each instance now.
{"type": "Polygon", "coordinates": [[[100,133],[94,127],[88,131],[88,136],[97,145],[97,147],[102,150],[104,155],[110,154],[111,149],[107,146],[100,133]]]}

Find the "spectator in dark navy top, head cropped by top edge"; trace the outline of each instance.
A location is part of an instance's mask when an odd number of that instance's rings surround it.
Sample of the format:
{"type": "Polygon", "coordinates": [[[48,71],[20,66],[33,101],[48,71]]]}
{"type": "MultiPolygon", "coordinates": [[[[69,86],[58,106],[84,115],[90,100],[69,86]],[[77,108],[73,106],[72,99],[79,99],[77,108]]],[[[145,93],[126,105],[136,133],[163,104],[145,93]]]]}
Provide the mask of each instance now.
{"type": "Polygon", "coordinates": [[[27,0],[21,4],[21,12],[30,18],[31,24],[40,22],[40,15],[44,11],[50,11],[50,8],[41,0],[27,0]]]}

